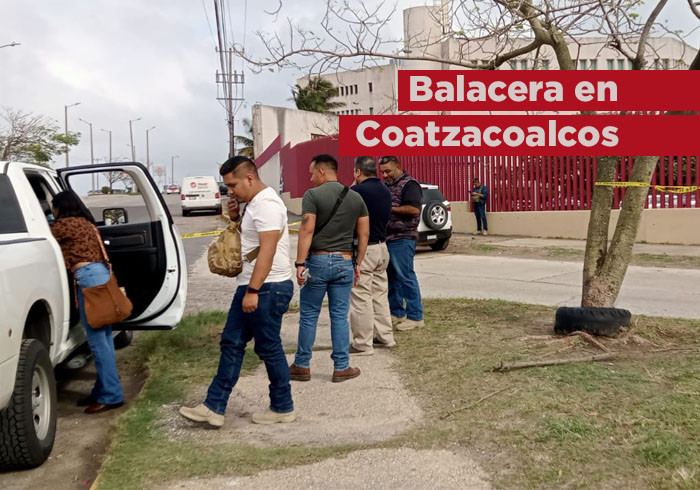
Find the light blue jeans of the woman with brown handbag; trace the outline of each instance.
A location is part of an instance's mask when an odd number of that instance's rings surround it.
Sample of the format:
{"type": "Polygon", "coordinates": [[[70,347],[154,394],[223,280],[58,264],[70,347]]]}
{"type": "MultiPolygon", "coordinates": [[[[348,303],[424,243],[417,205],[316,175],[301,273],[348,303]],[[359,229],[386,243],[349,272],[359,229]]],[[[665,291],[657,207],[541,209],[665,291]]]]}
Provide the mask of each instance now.
{"type": "Polygon", "coordinates": [[[109,281],[109,268],[102,262],[93,262],[75,271],[78,282],[78,305],[80,307],[80,322],[85,327],[85,335],[92,354],[95,356],[97,381],[92,389],[90,398],[98,403],[114,404],[124,401],[122,386],[117,373],[117,357],[114,353],[112,326],[92,328],[85,316],[85,298],[83,288],[99,286],[109,281]]]}

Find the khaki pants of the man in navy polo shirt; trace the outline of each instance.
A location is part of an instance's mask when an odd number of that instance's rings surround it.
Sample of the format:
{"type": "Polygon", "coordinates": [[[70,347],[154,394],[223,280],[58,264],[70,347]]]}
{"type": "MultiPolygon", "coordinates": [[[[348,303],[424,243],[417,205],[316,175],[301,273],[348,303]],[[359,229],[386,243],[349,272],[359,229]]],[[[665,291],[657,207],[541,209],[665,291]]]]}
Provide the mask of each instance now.
{"type": "Polygon", "coordinates": [[[371,351],[374,338],[383,344],[394,344],[386,275],[388,265],[386,243],[367,247],[360,267],[360,282],[352,288],[350,296],[352,344],[358,350],[371,351]]]}

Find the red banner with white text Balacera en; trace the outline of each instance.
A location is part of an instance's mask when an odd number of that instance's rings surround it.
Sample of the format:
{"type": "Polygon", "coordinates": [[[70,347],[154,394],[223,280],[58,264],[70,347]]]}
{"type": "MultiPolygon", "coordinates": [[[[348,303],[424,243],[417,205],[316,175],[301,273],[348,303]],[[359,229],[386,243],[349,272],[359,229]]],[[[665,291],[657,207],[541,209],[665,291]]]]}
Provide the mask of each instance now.
{"type": "Polygon", "coordinates": [[[399,70],[400,111],[700,110],[700,71],[399,70]]]}

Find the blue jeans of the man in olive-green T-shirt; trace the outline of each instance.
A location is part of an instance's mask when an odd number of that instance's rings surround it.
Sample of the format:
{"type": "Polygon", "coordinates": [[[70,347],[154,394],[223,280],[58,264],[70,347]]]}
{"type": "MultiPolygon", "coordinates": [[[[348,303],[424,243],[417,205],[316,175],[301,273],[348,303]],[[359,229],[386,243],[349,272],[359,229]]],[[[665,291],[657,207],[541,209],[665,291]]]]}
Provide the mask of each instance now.
{"type": "Polygon", "coordinates": [[[309,367],[311,349],[316,340],[316,325],[323,298],[328,293],[331,316],[333,368],[336,371],[350,365],[350,292],[355,280],[352,260],[341,255],[311,255],[306,262],[309,276],[299,295],[299,342],[294,364],[309,367]]]}

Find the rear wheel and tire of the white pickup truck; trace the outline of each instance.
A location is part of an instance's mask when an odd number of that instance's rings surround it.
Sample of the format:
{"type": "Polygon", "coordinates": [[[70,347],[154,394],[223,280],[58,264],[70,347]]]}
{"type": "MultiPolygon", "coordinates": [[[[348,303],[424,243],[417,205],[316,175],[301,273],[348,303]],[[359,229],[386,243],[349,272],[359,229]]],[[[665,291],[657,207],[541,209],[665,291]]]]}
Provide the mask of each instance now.
{"type": "Polygon", "coordinates": [[[56,379],[38,340],[22,342],[10,404],[0,412],[0,471],[40,466],[56,436],[56,379]]]}

